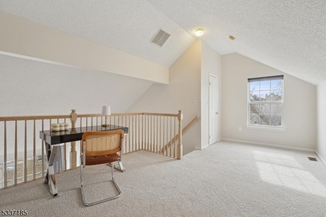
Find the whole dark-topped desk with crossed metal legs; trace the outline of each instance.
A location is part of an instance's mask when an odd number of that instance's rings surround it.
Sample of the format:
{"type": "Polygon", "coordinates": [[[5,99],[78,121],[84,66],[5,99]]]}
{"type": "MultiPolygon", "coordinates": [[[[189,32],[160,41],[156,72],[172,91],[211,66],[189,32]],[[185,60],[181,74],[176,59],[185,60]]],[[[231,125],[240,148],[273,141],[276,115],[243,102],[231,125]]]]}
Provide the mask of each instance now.
{"type": "MultiPolygon", "coordinates": [[[[55,168],[53,167],[53,162],[56,159],[59,146],[63,143],[73,142],[82,140],[83,133],[86,131],[106,131],[106,130],[116,130],[121,129],[124,133],[128,133],[128,127],[108,125],[108,127],[99,126],[89,126],[89,127],[76,127],[74,130],[63,130],[63,131],[51,131],[43,130],[40,131],[40,139],[45,142],[45,147],[47,151],[48,169],[44,179],[44,184],[49,190],[49,192],[56,197],[58,195],[58,189],[56,185],[55,168]],[[52,146],[52,150],[51,150],[52,146]]],[[[121,159],[119,161],[120,171],[124,172],[121,159]]]]}

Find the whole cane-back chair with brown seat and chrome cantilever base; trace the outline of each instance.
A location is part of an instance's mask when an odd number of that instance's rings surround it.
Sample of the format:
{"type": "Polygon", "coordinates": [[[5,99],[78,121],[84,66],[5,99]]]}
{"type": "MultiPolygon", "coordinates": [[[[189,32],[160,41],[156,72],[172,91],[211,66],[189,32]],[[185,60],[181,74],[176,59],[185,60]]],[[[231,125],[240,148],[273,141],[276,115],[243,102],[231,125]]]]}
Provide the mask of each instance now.
{"type": "MultiPolygon", "coordinates": [[[[87,131],[82,137],[82,154],[80,155],[80,188],[82,189],[83,202],[86,206],[92,206],[105,201],[113,200],[121,196],[120,188],[114,180],[115,161],[120,160],[122,153],[124,132],[123,130],[108,131],[87,131]],[[118,153],[120,152],[120,154],[118,153]],[[111,164],[111,176],[119,194],[114,197],[108,197],[103,200],[87,203],[85,198],[85,190],[83,187],[83,168],[86,165],[111,164]]],[[[110,167],[109,167],[110,168],[110,167]]]]}

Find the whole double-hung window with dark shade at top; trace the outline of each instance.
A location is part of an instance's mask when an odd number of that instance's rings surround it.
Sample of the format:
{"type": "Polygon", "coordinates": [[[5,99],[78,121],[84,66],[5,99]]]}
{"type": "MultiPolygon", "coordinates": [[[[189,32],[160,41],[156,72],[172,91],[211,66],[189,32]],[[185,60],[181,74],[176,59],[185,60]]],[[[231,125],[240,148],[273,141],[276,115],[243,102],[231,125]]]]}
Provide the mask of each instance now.
{"type": "Polygon", "coordinates": [[[283,75],[248,78],[248,126],[283,128],[283,75]]]}

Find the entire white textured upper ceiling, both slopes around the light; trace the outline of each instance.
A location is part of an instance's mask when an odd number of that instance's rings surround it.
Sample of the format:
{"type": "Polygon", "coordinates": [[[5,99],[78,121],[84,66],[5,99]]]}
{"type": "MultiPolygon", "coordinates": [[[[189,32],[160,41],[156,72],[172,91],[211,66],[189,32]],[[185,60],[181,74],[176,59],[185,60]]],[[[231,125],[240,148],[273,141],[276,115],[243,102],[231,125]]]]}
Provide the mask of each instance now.
{"type": "Polygon", "coordinates": [[[324,0],[1,0],[0,10],[165,66],[203,28],[221,55],[237,52],[311,84],[326,79],[324,0]],[[150,43],[159,28],[171,34],[162,47],[150,43]]]}

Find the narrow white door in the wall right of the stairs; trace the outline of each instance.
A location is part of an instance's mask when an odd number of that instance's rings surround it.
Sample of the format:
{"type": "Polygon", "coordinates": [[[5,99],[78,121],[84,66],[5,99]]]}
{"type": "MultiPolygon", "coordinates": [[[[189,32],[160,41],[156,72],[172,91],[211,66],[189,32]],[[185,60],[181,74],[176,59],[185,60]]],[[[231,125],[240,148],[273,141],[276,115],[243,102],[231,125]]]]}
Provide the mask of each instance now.
{"type": "Polygon", "coordinates": [[[209,75],[209,145],[218,141],[218,78],[209,75]]]}

